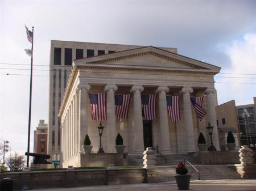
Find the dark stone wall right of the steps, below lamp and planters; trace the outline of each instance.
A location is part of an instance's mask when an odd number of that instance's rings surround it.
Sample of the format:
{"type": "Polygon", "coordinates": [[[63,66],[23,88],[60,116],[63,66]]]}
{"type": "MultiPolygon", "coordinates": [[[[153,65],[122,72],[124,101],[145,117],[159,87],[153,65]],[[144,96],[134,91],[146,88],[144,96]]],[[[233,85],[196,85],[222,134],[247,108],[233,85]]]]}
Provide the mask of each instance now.
{"type": "Polygon", "coordinates": [[[208,151],[200,152],[199,154],[200,164],[238,164],[239,154],[238,152],[230,151],[208,151]]]}

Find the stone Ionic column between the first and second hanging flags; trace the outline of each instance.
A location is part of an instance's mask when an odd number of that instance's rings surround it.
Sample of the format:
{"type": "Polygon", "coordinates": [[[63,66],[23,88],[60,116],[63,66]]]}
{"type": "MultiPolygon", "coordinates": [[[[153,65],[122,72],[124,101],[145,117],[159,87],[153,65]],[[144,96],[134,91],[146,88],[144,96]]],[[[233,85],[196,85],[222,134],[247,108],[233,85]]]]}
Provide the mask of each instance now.
{"type": "Polygon", "coordinates": [[[104,88],[107,92],[107,145],[108,152],[115,152],[115,136],[117,134],[115,128],[115,91],[117,86],[114,84],[107,84],[104,88]]]}

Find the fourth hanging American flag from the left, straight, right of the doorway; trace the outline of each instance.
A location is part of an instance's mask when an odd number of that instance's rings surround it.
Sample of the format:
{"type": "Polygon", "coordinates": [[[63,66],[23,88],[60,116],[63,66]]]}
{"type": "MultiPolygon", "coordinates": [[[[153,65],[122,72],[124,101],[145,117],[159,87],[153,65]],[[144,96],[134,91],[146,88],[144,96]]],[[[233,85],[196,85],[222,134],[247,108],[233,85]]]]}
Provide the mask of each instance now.
{"type": "Polygon", "coordinates": [[[166,101],[171,121],[180,121],[179,96],[166,96],[166,101]]]}

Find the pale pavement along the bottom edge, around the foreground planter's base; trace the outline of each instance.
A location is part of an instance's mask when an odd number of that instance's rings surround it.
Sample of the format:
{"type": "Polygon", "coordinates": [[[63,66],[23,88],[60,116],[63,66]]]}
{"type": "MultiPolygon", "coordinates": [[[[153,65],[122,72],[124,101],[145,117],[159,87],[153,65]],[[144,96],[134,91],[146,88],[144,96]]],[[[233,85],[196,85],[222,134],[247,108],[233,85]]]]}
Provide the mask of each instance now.
{"type": "MultiPolygon", "coordinates": [[[[114,186],[86,186],[77,188],[57,188],[57,189],[38,189],[34,191],[109,191],[109,190],[159,190],[172,191],[178,190],[176,182],[160,182],[156,184],[129,184],[114,186]]],[[[207,180],[207,181],[191,181],[189,190],[201,191],[256,191],[256,180],[207,180]]]]}

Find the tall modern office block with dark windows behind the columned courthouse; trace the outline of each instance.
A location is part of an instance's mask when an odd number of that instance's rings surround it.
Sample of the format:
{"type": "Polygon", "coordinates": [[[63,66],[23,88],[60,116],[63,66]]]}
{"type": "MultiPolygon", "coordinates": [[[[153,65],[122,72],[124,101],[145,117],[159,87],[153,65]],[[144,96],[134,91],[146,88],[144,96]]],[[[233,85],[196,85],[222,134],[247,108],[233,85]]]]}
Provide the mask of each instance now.
{"type": "MultiPolygon", "coordinates": [[[[51,160],[60,159],[60,118],[58,112],[67,86],[72,62],[76,59],[113,54],[123,50],[140,48],[142,46],[82,43],[72,41],[51,41],[49,61],[49,124],[48,124],[48,154],[51,160]]],[[[175,48],[162,48],[177,53],[175,48]]]]}

